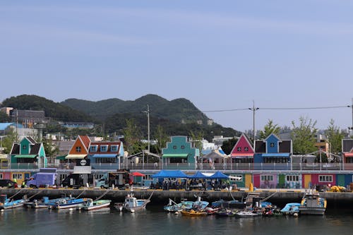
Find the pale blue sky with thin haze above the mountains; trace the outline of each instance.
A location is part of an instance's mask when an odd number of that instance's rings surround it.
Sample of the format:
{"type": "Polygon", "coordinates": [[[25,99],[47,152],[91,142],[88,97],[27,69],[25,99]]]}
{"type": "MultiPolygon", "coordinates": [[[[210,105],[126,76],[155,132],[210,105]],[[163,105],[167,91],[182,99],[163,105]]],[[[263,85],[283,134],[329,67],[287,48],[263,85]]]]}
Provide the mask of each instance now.
{"type": "MultiPolygon", "coordinates": [[[[40,95],[184,97],[201,109],[256,111],[256,128],[300,116],[352,126],[352,0],[1,1],[0,101],[40,95]]],[[[152,112],[152,110],[151,110],[152,112]]],[[[253,127],[253,113],[208,112],[253,127]]]]}

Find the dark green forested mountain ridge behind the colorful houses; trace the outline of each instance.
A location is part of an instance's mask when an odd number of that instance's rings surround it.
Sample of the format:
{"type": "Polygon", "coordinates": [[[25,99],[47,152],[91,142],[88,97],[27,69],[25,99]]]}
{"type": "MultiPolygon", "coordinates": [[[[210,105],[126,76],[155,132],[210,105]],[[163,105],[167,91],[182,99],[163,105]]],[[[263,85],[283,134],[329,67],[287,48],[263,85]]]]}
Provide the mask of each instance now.
{"type": "Polygon", "coordinates": [[[208,140],[214,135],[240,135],[239,131],[217,123],[208,125],[208,117],[184,98],[168,101],[157,95],[145,95],[133,101],[115,98],[97,102],[68,99],[56,103],[36,95],[20,95],[4,100],[2,107],[44,110],[45,116],[53,121],[94,122],[102,124],[97,128],[102,130],[100,133],[116,135],[123,134],[126,119],[131,119],[145,136],[148,132],[147,105],[150,109],[151,137],[157,126],[162,126],[167,135],[189,135],[191,131],[199,131],[208,140]]]}

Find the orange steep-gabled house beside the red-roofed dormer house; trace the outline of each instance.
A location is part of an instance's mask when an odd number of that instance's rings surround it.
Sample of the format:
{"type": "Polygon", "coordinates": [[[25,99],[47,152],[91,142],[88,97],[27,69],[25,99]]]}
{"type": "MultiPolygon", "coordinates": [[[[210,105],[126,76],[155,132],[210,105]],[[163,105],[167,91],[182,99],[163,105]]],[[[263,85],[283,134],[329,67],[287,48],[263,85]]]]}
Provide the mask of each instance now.
{"type": "MultiPolygon", "coordinates": [[[[68,159],[69,162],[76,162],[76,164],[81,165],[81,160],[87,159],[90,143],[90,138],[87,135],[78,135],[65,159],[68,159]]],[[[86,162],[86,164],[87,163],[88,162],[86,162]]]]}

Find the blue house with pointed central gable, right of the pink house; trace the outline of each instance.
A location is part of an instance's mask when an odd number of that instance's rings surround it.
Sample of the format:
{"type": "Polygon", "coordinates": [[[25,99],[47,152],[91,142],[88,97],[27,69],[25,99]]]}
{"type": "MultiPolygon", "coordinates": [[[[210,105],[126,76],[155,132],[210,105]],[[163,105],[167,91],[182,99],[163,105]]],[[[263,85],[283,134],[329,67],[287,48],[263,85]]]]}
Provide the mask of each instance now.
{"type": "Polygon", "coordinates": [[[274,133],[256,140],[254,169],[290,169],[292,140],[280,140],[274,133]]]}

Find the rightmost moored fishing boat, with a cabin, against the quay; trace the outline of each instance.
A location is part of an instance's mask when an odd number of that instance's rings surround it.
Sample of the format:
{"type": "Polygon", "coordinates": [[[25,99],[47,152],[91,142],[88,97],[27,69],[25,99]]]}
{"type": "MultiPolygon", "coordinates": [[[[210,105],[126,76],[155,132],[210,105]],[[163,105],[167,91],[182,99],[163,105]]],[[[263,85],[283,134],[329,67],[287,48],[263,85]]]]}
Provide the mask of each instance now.
{"type": "Polygon", "coordinates": [[[300,204],[299,212],[301,215],[324,215],[327,200],[321,198],[317,191],[309,191],[309,193],[305,193],[300,204]]]}

